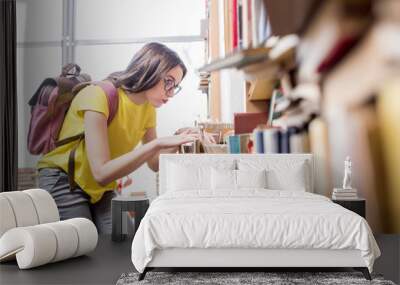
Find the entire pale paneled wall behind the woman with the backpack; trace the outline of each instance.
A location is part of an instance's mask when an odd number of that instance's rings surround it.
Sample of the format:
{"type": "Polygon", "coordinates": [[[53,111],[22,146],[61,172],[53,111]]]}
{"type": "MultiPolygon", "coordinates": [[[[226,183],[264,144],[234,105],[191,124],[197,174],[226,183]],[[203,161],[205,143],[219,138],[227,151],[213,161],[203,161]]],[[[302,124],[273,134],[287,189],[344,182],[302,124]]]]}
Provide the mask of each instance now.
{"type": "MultiPolygon", "coordinates": [[[[34,167],[37,157],[26,149],[30,118],[27,102],[40,82],[61,69],[62,0],[17,0],[18,42],[48,42],[49,46],[27,47],[20,44],[18,62],[19,167],[34,167]],[[50,16],[49,16],[50,15],[50,16]],[[50,43],[49,43],[50,42],[50,43]],[[58,47],[54,46],[57,45],[58,47]],[[51,46],[53,45],[53,46],[51,46]]],[[[122,70],[144,43],[115,44],[113,41],[198,36],[200,19],[205,18],[203,0],[76,0],[76,40],[107,41],[103,45],[77,45],[75,61],[82,71],[99,80],[122,70]]],[[[168,42],[188,68],[182,91],[157,110],[159,136],[171,135],[176,129],[193,125],[194,120],[207,117],[207,98],[197,90],[195,69],[204,64],[205,43],[168,42]]],[[[130,188],[155,191],[155,175],[147,166],[133,174],[130,188]]]]}

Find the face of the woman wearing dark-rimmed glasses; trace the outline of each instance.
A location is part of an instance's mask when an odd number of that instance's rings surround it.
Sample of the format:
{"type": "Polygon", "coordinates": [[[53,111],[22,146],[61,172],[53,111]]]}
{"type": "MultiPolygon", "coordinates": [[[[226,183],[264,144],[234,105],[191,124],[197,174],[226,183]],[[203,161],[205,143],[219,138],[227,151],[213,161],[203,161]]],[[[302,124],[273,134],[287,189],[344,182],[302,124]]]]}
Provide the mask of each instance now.
{"type": "Polygon", "coordinates": [[[146,91],[147,100],[156,108],[166,104],[180,90],[182,77],[182,68],[175,66],[153,88],[146,91]]]}

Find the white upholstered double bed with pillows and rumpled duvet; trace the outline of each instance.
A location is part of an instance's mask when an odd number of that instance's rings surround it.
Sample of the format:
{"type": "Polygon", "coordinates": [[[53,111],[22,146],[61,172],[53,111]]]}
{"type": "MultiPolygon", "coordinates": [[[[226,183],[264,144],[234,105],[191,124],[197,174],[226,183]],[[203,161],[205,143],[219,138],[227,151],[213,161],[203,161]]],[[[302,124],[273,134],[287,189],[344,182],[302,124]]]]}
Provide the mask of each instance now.
{"type": "Polygon", "coordinates": [[[361,216],[313,193],[311,154],[160,157],[159,196],[132,243],[143,279],[158,267],[352,267],[380,251],[361,216]]]}

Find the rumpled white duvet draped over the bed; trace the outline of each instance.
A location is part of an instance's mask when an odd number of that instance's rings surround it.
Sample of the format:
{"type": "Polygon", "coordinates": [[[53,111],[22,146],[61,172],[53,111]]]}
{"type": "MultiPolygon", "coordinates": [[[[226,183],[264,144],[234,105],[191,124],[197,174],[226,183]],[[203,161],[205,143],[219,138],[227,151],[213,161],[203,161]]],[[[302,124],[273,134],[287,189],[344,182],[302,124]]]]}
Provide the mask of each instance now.
{"type": "Polygon", "coordinates": [[[380,255],[359,215],[321,195],[265,189],[158,197],[133,239],[132,262],[143,272],[165,248],[358,249],[370,271],[380,255]]]}

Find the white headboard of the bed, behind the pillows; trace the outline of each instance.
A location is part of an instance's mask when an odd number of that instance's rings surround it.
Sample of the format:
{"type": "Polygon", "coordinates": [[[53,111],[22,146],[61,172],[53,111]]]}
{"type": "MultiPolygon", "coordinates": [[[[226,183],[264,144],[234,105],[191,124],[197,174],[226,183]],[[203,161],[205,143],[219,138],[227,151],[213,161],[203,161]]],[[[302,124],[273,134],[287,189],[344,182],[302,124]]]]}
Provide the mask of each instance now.
{"type": "Polygon", "coordinates": [[[158,194],[166,192],[168,167],[171,163],[187,165],[188,167],[204,167],[215,165],[232,165],[234,169],[241,167],[257,167],[267,165],[275,170],[282,168],[282,173],[291,174],[300,163],[306,165],[305,179],[307,192],[314,192],[314,160],[312,154],[161,154],[159,164],[158,194]]]}

